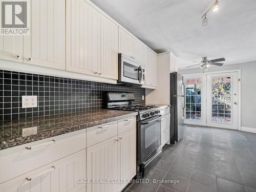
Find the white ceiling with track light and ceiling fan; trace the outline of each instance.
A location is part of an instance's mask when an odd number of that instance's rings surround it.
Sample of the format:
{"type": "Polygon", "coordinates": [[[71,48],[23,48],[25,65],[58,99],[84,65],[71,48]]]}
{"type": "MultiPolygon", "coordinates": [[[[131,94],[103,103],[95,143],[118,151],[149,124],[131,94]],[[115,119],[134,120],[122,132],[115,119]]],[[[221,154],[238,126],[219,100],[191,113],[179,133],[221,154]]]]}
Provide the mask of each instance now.
{"type": "Polygon", "coordinates": [[[225,63],[256,60],[256,1],[219,0],[208,25],[201,16],[215,0],[91,0],[157,53],[172,51],[179,68],[225,57],[225,63]]]}

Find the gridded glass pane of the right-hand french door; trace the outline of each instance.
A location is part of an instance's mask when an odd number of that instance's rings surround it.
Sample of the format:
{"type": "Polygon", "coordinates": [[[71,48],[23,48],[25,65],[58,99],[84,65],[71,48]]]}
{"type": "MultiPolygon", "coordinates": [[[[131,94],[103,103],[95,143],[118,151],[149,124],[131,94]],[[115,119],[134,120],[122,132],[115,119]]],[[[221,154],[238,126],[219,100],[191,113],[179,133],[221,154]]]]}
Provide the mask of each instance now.
{"type": "Polygon", "coordinates": [[[212,77],[211,121],[231,123],[232,79],[228,76],[212,77]]]}

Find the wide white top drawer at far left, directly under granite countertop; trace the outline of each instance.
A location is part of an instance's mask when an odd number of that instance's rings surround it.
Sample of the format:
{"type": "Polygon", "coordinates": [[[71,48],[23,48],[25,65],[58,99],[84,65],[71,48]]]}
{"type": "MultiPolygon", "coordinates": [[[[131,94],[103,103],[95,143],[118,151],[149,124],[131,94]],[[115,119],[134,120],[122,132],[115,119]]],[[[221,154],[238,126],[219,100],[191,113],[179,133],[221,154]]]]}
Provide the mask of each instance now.
{"type": "Polygon", "coordinates": [[[0,183],[78,152],[83,148],[86,148],[86,130],[1,150],[0,183]]]}

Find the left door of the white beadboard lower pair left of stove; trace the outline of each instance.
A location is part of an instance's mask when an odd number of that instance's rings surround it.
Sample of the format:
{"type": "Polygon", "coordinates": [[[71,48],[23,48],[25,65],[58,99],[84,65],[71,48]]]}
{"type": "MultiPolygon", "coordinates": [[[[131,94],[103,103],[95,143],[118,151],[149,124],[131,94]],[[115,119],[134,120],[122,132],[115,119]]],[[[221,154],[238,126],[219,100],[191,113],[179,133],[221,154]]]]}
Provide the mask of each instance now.
{"type": "Polygon", "coordinates": [[[118,191],[117,183],[108,182],[118,179],[117,145],[117,137],[113,137],[87,148],[87,179],[98,181],[88,183],[87,191],[118,191]]]}

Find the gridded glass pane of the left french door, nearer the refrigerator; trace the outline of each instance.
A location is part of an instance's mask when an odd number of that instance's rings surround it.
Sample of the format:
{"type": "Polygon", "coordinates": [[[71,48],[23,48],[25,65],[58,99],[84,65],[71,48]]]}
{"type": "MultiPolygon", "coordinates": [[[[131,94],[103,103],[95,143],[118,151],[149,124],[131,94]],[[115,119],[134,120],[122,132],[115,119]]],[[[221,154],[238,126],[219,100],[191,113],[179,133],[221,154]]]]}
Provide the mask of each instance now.
{"type": "Polygon", "coordinates": [[[201,78],[185,80],[186,119],[201,120],[201,78]]]}

